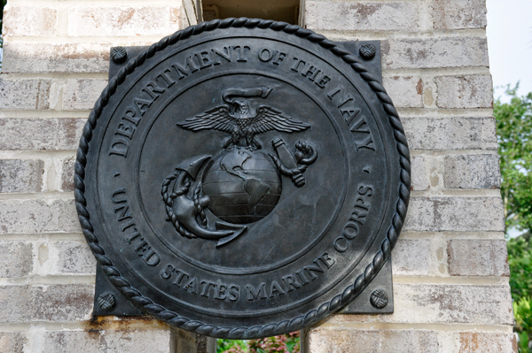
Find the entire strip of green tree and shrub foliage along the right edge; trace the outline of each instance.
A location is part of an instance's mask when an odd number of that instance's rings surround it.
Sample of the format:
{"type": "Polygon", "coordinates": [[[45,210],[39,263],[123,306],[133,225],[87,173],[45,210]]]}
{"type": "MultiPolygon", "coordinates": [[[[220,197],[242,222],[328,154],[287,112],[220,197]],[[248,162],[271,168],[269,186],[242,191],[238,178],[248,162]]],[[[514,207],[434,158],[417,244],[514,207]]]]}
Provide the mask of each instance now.
{"type": "Polygon", "coordinates": [[[514,331],[519,337],[520,353],[532,353],[532,93],[517,96],[515,88],[506,88],[510,103],[497,99],[498,153],[501,162],[501,196],[505,202],[506,228],[526,231],[508,240],[508,265],[512,288],[514,331]]]}

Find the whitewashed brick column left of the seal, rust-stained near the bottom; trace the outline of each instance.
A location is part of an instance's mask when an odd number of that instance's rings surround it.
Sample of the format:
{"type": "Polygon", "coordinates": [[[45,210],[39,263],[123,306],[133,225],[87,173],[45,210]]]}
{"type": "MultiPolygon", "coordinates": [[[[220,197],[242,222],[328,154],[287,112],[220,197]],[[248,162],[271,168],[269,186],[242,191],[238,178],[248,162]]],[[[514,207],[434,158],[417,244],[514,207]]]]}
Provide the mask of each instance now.
{"type": "Polygon", "coordinates": [[[205,337],[151,318],[92,318],[96,262],[72,179],[109,49],[149,45],[197,21],[192,1],[148,3],[10,0],[5,9],[0,352],[207,352],[205,337]]]}

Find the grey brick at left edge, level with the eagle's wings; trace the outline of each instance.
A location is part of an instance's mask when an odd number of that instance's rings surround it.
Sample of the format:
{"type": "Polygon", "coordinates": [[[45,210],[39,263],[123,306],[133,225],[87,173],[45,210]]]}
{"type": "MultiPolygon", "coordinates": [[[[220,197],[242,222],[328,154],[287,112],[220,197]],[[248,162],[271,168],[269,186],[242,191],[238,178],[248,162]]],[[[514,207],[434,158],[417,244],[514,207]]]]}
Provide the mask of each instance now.
{"type": "Polygon", "coordinates": [[[76,150],[86,121],[0,118],[0,150],[76,150]]]}

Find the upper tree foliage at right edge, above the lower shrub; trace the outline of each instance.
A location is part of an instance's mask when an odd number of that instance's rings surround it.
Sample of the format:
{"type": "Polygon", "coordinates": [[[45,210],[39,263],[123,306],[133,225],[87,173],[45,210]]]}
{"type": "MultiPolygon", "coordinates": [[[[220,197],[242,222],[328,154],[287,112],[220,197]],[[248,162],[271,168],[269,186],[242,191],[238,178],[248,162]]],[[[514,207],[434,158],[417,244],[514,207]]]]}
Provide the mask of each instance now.
{"type": "Polygon", "coordinates": [[[519,88],[506,88],[511,102],[497,99],[498,152],[501,161],[501,195],[506,226],[532,229],[532,93],[517,96],[519,88]]]}

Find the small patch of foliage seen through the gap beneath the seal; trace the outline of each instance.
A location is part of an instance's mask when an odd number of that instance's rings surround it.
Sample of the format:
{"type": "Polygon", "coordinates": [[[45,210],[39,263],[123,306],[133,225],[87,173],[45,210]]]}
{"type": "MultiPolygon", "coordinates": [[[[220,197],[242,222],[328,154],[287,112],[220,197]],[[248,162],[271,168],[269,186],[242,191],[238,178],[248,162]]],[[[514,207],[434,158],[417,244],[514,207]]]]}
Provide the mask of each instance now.
{"type": "Polygon", "coordinates": [[[250,341],[218,340],[217,353],[299,353],[300,333],[250,341]]]}

